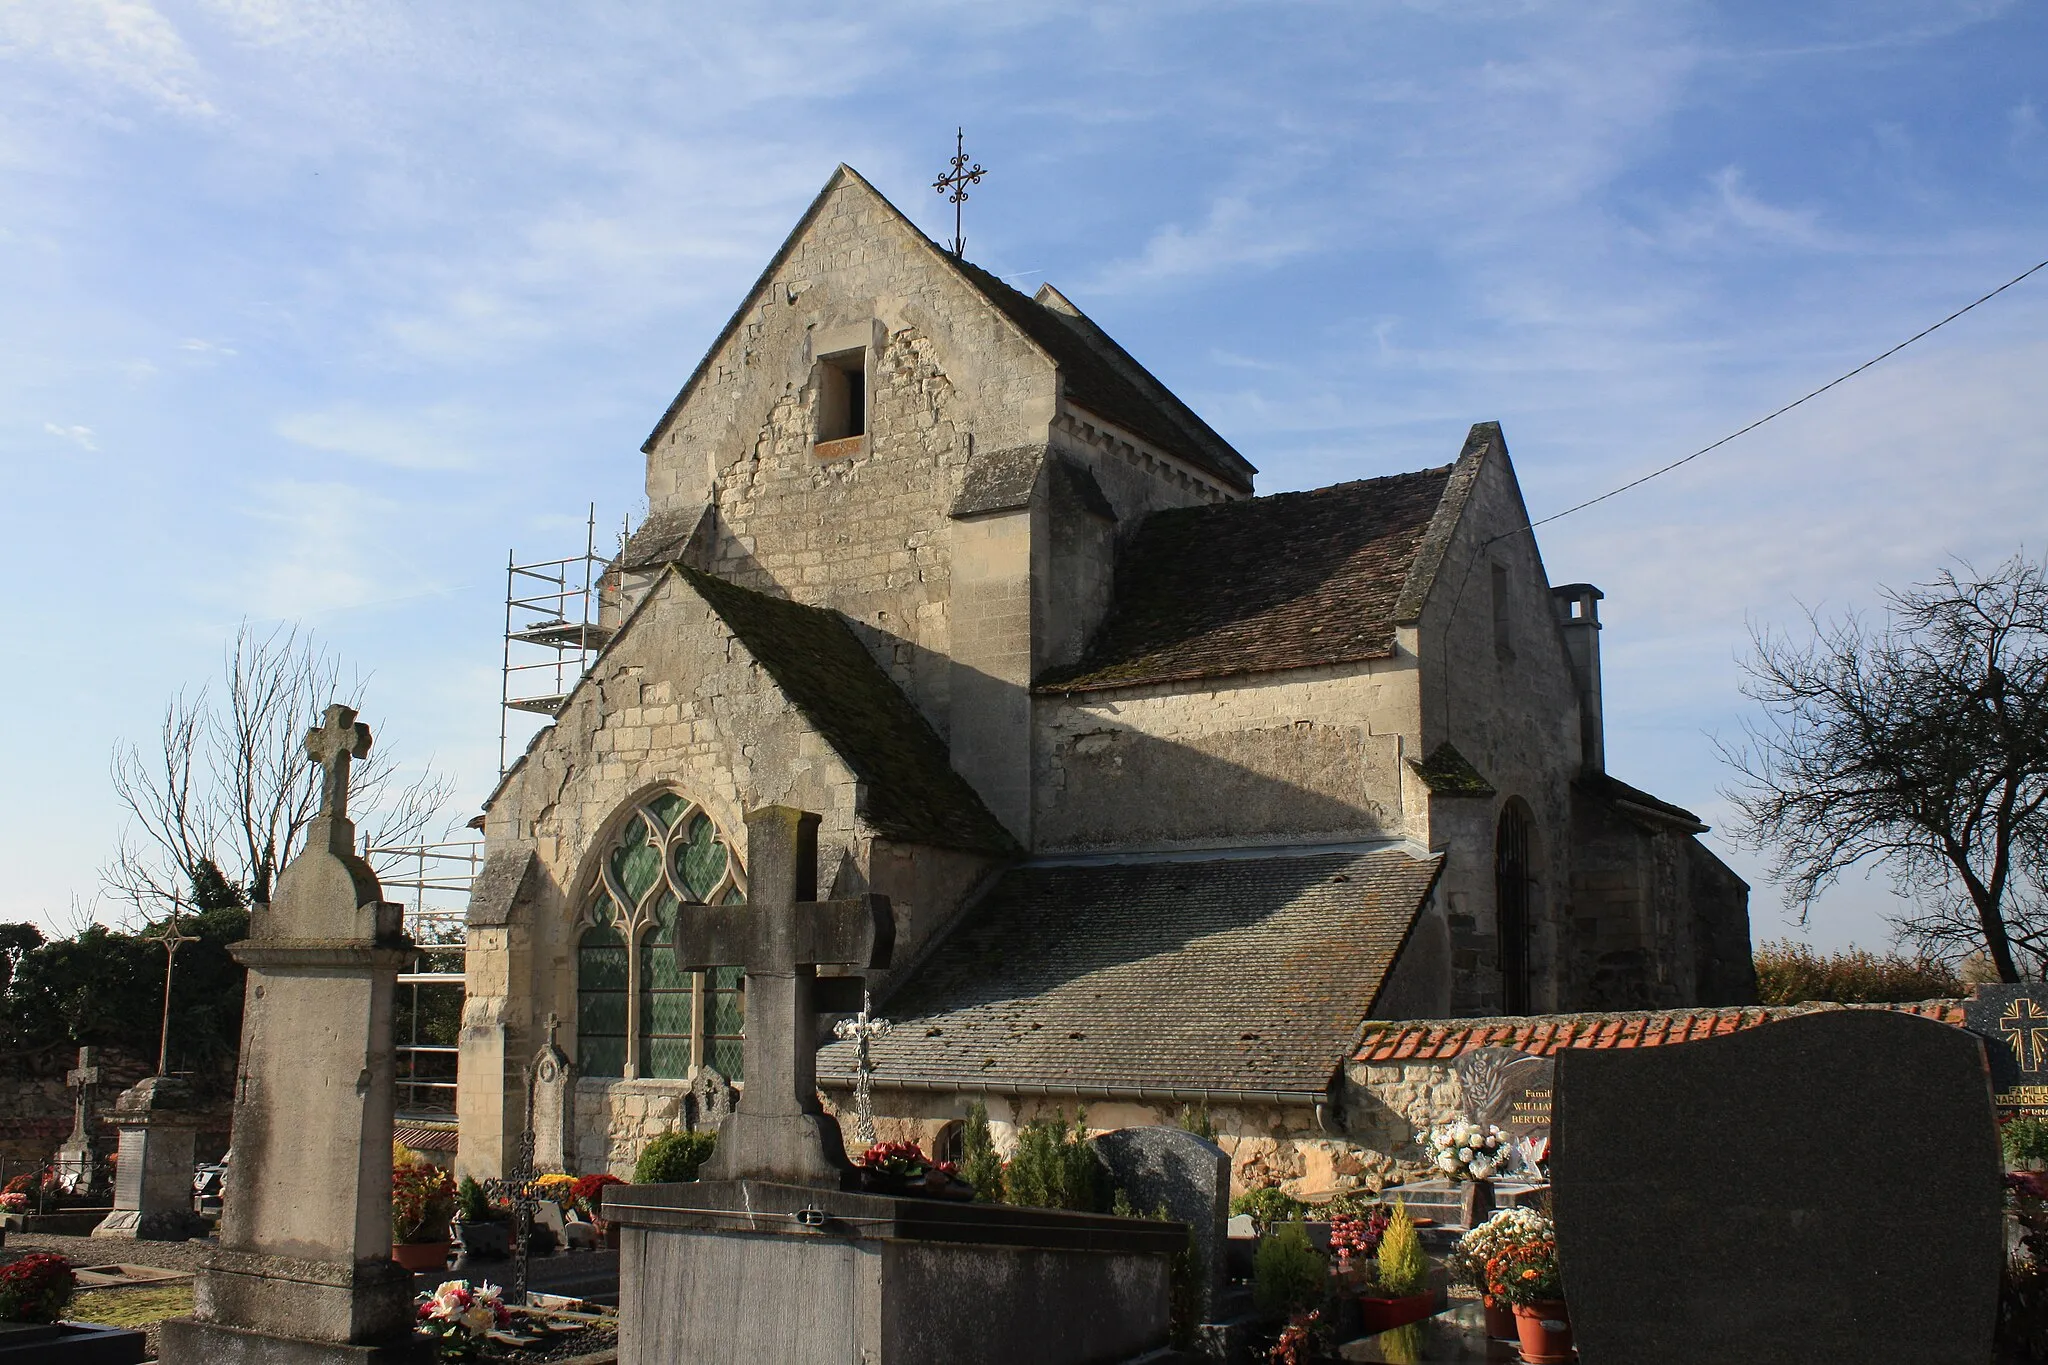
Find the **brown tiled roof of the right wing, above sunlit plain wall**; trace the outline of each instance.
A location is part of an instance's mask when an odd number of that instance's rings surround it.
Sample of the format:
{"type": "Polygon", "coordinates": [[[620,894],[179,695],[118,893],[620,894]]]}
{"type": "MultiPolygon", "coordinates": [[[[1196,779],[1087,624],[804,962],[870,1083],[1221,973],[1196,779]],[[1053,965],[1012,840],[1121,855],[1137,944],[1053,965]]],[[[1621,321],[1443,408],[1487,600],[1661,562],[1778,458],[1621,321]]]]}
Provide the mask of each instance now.
{"type": "Polygon", "coordinates": [[[1452,465],[1153,512],[1116,600],[1051,692],[1386,659],[1452,465]]]}

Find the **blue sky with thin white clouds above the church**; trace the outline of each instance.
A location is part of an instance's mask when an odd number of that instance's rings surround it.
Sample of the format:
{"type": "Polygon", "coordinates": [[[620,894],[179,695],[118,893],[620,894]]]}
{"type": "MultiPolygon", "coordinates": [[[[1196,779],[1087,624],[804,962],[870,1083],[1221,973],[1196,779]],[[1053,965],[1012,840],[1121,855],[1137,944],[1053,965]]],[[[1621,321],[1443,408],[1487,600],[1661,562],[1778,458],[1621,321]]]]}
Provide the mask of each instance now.
{"type": "MultiPolygon", "coordinates": [[[[838,162],[1059,284],[1260,467],[1536,516],[2048,256],[2042,0],[0,0],[0,919],[119,907],[109,755],[299,624],[498,776],[506,555],[645,512],[639,442],[838,162]]],[[[1608,593],[1608,765],[1731,845],[1751,628],[2044,548],[2048,272],[1540,532],[1608,593]]],[[[514,729],[514,739],[522,726],[514,729]]]]}

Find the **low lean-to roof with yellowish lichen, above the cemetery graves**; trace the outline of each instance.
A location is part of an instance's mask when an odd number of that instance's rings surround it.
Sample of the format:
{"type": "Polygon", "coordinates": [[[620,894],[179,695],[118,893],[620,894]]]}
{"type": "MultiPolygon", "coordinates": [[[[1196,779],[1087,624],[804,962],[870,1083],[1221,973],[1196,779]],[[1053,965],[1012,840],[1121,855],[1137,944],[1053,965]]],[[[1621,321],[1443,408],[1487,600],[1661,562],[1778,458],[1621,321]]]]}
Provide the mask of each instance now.
{"type": "MultiPolygon", "coordinates": [[[[1350,849],[1014,868],[883,1005],[877,1083],[1319,1097],[1440,866],[1350,849]]],[[[850,1044],[819,1054],[827,1085],[850,1068],[850,1044]]]]}

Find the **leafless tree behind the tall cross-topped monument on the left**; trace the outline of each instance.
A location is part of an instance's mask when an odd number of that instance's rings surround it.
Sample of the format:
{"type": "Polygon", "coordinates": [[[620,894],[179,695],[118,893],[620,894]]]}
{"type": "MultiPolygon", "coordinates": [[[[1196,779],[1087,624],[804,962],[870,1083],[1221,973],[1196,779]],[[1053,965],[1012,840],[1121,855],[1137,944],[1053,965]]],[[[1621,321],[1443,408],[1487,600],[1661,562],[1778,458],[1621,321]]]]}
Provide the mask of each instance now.
{"type": "MultiPolygon", "coordinates": [[[[143,919],[190,907],[209,878],[248,905],[270,900],[319,808],[305,731],[330,702],[356,706],[362,696],[362,679],[344,677],[340,661],[295,628],[258,636],[244,624],[221,673],[221,704],[207,688],[180,692],[147,753],[115,749],[115,792],[133,821],[102,876],[143,919]]],[[[401,780],[391,747],[379,745],[350,774],[348,810],[373,845],[397,847],[442,833],[453,790],[432,769],[401,780]]]]}

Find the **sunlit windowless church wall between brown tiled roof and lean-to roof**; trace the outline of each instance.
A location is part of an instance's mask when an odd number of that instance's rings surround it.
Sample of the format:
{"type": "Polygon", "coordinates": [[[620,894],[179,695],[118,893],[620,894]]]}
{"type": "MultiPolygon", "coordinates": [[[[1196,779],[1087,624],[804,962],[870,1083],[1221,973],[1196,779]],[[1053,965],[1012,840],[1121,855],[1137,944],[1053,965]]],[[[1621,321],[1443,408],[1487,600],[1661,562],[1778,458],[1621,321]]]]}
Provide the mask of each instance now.
{"type": "Polygon", "coordinates": [[[1423,837],[1413,657],[1040,696],[1038,849],[1423,837]]]}

